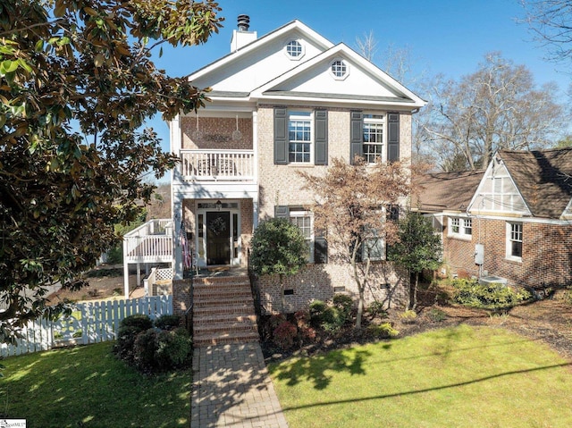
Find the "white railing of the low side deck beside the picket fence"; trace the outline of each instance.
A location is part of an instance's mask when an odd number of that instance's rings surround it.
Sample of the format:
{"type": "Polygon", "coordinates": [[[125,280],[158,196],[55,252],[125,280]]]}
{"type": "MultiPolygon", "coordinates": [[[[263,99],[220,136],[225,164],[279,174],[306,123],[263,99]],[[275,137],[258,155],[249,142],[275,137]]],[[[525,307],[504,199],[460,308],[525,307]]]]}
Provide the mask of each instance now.
{"type": "Polygon", "coordinates": [[[123,236],[126,263],[172,261],[172,220],[151,220],[123,236]]]}

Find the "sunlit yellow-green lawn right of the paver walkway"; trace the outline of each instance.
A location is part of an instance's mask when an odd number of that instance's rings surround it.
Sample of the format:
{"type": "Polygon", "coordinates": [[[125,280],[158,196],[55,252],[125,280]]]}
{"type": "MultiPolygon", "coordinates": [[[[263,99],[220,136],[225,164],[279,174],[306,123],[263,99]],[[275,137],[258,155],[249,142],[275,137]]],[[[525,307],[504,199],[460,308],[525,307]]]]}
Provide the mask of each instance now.
{"type": "Polygon", "coordinates": [[[290,428],[569,427],[571,364],[538,341],[459,326],[269,371],[290,428]]]}

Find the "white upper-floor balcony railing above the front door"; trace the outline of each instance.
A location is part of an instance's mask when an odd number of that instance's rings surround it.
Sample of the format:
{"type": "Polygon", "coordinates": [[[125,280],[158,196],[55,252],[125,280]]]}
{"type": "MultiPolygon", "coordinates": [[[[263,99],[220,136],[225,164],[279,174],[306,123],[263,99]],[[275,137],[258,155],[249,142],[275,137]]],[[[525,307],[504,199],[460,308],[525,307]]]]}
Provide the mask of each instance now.
{"type": "Polygon", "coordinates": [[[181,150],[186,181],[253,181],[253,150],[181,150]]]}

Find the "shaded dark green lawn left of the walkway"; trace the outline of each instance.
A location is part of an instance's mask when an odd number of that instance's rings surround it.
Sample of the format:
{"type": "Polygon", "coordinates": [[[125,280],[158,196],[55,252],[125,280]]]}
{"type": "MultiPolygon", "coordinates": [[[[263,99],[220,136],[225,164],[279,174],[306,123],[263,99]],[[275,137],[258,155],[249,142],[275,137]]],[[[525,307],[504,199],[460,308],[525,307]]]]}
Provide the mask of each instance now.
{"type": "Polygon", "coordinates": [[[6,358],[0,414],[31,428],[189,426],[190,369],[147,377],[113,343],[6,358]]]}

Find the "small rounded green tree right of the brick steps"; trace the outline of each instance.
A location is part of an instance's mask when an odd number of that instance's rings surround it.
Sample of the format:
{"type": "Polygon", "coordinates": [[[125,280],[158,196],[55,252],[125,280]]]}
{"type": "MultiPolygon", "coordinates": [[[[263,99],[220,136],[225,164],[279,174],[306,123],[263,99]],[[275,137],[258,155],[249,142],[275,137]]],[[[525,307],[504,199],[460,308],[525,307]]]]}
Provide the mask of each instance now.
{"type": "Polygon", "coordinates": [[[284,301],[284,277],[295,275],[307,264],[307,242],[296,224],[282,218],[261,222],[251,241],[252,270],[259,275],[278,275],[280,278],[280,304],[282,314],[284,301]]]}

